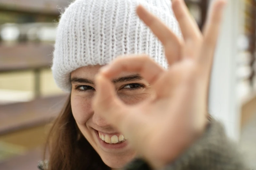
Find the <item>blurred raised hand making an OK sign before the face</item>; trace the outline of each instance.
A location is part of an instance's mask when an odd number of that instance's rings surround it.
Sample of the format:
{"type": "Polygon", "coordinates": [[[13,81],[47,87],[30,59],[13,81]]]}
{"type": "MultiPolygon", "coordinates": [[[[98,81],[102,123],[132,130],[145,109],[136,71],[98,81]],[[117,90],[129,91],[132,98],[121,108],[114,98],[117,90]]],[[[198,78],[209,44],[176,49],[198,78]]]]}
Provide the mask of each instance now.
{"type": "Polygon", "coordinates": [[[96,78],[94,110],[128,138],[138,154],[155,168],[174,161],[204,132],[213,54],[225,5],[215,0],[203,34],[183,0],[172,7],[183,39],[144,7],[137,8],[142,21],[165,48],[169,69],[145,55],[118,58],[103,67],[96,78]],[[128,106],[117,98],[111,79],[122,72],[141,74],[156,95],[128,106]]]}

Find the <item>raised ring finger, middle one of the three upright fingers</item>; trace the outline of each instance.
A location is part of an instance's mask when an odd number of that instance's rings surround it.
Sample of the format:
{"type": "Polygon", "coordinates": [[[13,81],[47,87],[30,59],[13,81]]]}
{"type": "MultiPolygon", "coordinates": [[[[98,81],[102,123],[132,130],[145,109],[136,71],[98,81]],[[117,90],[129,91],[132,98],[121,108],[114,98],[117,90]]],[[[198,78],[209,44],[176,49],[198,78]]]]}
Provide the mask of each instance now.
{"type": "Polygon", "coordinates": [[[201,36],[196,21],[191,17],[184,0],[173,0],[172,8],[179,22],[184,40],[197,40],[201,36]]]}

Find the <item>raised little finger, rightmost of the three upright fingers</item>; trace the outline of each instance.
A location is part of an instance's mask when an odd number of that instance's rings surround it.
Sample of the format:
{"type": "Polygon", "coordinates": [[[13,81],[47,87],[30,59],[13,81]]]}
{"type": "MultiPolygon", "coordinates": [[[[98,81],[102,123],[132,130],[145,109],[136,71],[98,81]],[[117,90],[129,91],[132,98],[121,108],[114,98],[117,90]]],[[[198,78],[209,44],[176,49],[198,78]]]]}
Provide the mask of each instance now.
{"type": "Polygon", "coordinates": [[[208,68],[208,72],[210,71],[211,65],[213,63],[214,50],[219,34],[219,28],[225,4],[225,0],[216,0],[213,2],[210,10],[211,13],[203,32],[204,40],[202,45],[202,52],[198,60],[202,66],[208,68]]]}

